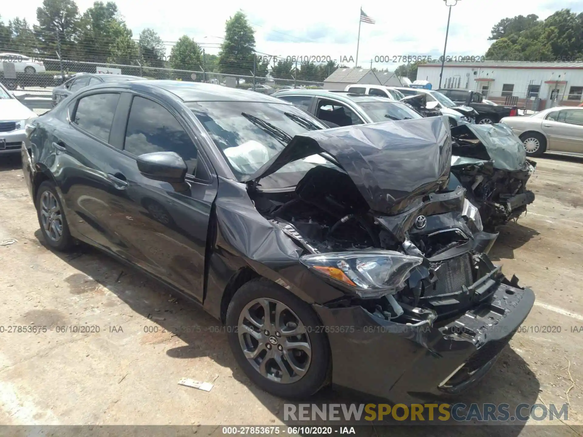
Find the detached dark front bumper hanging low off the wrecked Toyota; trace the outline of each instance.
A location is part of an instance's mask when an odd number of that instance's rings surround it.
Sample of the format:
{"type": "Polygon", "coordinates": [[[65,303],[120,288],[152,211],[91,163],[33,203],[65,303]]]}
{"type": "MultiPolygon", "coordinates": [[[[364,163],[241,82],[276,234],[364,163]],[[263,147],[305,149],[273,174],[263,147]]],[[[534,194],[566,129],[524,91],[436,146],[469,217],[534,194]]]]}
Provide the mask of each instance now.
{"type": "Polygon", "coordinates": [[[455,394],[480,379],[534,301],[530,288],[502,283],[487,302],[433,326],[390,322],[361,306],[314,308],[330,327],[332,383],[407,403],[455,394]]]}

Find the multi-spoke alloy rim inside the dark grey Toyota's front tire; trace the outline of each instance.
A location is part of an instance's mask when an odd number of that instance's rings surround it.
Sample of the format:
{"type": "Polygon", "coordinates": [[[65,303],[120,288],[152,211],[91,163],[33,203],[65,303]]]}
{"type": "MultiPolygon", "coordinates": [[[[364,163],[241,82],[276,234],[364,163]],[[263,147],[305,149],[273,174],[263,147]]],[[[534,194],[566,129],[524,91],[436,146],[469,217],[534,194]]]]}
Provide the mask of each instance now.
{"type": "Polygon", "coordinates": [[[289,306],[270,298],[249,302],[239,316],[243,354],[265,378],[282,384],[303,378],[312,349],[307,330],[289,306]]]}

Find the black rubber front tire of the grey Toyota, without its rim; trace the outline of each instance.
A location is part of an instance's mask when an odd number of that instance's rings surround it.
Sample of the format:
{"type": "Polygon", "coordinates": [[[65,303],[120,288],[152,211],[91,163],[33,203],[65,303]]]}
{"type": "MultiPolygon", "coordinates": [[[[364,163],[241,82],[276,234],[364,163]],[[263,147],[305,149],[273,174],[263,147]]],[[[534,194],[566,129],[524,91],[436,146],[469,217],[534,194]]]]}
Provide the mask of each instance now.
{"type": "Polygon", "coordinates": [[[285,399],[306,399],[326,384],[331,368],[328,337],[322,332],[322,329],[317,328],[321,326],[321,323],[310,305],[285,288],[264,278],[253,279],[245,283],[237,290],[229,304],[226,322],[227,337],[238,365],[252,382],[266,392],[285,399]],[[243,353],[238,334],[239,318],[245,306],[259,298],[275,299],[287,305],[306,328],[305,336],[308,337],[311,346],[311,361],[305,375],[296,382],[281,383],[269,380],[252,366],[250,360],[243,353]]]}

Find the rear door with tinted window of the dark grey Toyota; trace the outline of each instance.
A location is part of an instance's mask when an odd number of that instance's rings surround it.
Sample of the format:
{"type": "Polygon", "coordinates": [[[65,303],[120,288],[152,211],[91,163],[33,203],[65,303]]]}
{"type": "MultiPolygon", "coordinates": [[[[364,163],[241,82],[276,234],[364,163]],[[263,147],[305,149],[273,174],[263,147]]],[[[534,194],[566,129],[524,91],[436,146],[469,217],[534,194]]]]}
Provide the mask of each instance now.
{"type": "Polygon", "coordinates": [[[122,187],[111,173],[120,154],[110,138],[119,119],[120,92],[99,90],[79,96],[69,107],[71,121],[52,132],[52,147],[69,223],[107,251],[120,249],[113,210],[122,187]]]}

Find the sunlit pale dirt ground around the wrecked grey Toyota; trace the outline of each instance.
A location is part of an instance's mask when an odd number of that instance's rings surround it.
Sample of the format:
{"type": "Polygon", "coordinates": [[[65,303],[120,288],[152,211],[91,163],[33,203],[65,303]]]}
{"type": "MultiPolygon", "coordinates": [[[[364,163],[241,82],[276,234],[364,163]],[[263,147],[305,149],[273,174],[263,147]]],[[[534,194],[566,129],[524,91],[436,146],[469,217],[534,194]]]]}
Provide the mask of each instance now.
{"type": "MultiPolygon", "coordinates": [[[[535,203],[501,229],[491,252],[508,276],[535,291],[536,304],[523,332],[461,400],[511,407],[568,400],[568,424],[581,425],[583,158],[536,161],[535,203]]],[[[0,157],[0,186],[0,242],[17,240],[0,246],[0,326],[48,327],[0,333],[0,424],[284,423],[284,401],[245,378],[215,319],[91,248],[68,255],[45,248],[19,157],[0,157]],[[82,325],[95,332],[57,332],[82,325]],[[185,333],[185,326],[195,328],[185,333]],[[181,378],[215,386],[203,392],[178,385],[181,378]]],[[[344,396],[326,390],[315,402],[354,401],[344,396]]],[[[581,429],[540,424],[549,422],[472,427],[472,435],[574,436],[581,429]]],[[[423,428],[425,436],[439,434],[423,428]]],[[[389,434],[378,426],[366,433],[389,434]]]]}

